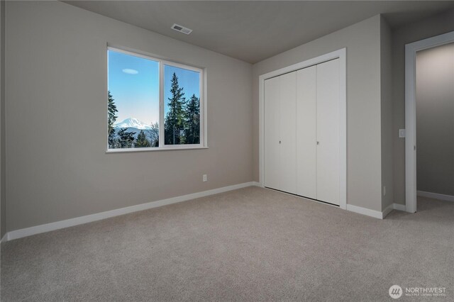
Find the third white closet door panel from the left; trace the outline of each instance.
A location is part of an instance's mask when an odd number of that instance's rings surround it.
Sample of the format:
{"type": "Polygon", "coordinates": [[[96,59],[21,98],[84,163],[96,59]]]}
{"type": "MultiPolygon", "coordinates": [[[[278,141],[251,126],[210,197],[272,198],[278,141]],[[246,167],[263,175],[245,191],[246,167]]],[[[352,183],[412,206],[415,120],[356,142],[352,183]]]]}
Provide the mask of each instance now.
{"type": "Polygon", "coordinates": [[[297,194],[317,198],[316,66],[297,72],[297,194]]]}

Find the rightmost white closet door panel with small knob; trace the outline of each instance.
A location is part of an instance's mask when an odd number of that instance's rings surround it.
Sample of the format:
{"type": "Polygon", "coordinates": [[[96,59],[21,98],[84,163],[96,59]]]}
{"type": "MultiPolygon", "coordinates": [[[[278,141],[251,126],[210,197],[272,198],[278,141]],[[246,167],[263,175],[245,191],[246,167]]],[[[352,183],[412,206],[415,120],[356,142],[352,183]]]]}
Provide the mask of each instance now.
{"type": "Polygon", "coordinates": [[[317,65],[317,199],[339,204],[339,60],[317,65]]]}

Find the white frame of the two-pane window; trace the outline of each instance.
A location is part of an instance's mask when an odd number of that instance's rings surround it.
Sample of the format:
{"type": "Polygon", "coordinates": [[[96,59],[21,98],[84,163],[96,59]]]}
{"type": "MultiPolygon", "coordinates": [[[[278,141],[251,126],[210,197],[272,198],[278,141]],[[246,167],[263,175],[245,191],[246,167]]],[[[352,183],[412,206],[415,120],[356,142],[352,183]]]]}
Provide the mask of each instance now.
{"type": "MultiPolygon", "coordinates": [[[[119,47],[107,46],[106,50],[106,60],[107,60],[107,85],[109,86],[109,56],[107,55],[109,50],[114,52],[121,52],[125,55],[133,55],[135,57],[141,57],[147,60],[153,60],[158,62],[159,66],[159,147],[146,147],[146,148],[115,148],[109,149],[109,125],[107,125],[107,135],[106,135],[106,152],[107,153],[116,153],[116,152],[143,152],[143,151],[163,151],[163,150],[187,150],[187,149],[207,149],[208,145],[206,143],[206,77],[205,70],[203,68],[189,66],[177,62],[172,62],[169,60],[160,59],[156,55],[148,55],[144,52],[139,52],[135,50],[124,50],[119,47]],[[200,143],[199,144],[187,144],[187,145],[165,145],[164,138],[164,122],[165,122],[165,99],[164,99],[164,65],[178,67],[182,69],[192,70],[194,72],[199,72],[199,99],[200,99],[200,143]]],[[[108,89],[106,89],[107,94],[108,89]]],[[[109,98],[106,96],[106,100],[109,98]]],[[[106,108],[108,108],[106,106],[106,108]]]]}

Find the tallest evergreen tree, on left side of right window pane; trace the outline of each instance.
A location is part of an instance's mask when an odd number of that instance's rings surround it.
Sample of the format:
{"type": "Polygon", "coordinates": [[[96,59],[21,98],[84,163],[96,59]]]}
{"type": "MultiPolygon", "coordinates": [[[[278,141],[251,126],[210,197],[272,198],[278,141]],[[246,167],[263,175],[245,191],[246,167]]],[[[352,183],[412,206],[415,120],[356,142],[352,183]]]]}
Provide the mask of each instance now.
{"type": "Polygon", "coordinates": [[[184,114],[183,108],[186,103],[183,87],[179,87],[178,77],[175,72],[172,75],[172,85],[170,88],[172,97],[169,98],[167,106],[169,111],[165,117],[164,139],[166,145],[184,144],[184,114]]]}

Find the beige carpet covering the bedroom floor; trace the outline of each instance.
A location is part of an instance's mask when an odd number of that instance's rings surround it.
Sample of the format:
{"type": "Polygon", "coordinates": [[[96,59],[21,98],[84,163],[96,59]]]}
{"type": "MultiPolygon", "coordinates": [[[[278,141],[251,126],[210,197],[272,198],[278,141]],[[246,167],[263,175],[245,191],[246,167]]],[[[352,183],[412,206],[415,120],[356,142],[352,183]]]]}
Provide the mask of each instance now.
{"type": "Polygon", "coordinates": [[[2,244],[1,301],[383,301],[393,284],[453,301],[454,203],[418,208],[378,220],[258,187],[199,198],[2,244]]]}

